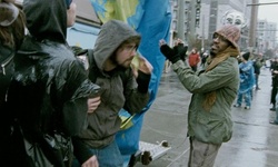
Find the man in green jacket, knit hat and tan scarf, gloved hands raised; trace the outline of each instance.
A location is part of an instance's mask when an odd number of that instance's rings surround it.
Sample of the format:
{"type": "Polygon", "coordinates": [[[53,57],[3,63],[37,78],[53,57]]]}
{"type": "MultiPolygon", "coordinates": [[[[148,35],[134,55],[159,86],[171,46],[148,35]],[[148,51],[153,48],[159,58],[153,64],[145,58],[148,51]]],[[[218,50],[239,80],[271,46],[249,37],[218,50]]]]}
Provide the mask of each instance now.
{"type": "Polygon", "coordinates": [[[230,112],[239,86],[239,37],[240,30],[236,26],[217,30],[202,73],[193,72],[173,49],[160,40],[161,52],[172,62],[183,87],[193,94],[188,112],[189,167],[212,167],[221,144],[231,138],[230,112]]]}

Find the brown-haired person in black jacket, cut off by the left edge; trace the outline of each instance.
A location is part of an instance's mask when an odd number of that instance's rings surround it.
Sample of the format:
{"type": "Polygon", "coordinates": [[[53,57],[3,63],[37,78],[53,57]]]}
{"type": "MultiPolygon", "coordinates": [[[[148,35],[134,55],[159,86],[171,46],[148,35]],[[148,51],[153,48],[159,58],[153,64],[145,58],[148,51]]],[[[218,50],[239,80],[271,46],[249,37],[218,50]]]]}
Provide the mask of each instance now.
{"type": "Polygon", "coordinates": [[[7,161],[10,151],[9,137],[11,134],[11,119],[7,115],[11,111],[7,107],[7,91],[13,75],[12,58],[24,37],[26,19],[22,10],[13,4],[12,0],[0,1],[0,161],[2,166],[9,166],[7,161]],[[6,116],[4,116],[6,115],[6,116]]]}

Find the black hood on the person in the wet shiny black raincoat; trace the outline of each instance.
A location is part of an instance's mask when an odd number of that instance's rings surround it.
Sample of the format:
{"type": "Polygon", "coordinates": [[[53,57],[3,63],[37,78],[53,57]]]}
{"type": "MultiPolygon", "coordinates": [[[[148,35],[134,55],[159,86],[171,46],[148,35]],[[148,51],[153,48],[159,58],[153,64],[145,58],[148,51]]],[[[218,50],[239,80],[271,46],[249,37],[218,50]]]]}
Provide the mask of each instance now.
{"type": "Polygon", "coordinates": [[[33,38],[66,42],[67,4],[64,0],[24,0],[27,28],[33,38]]]}

